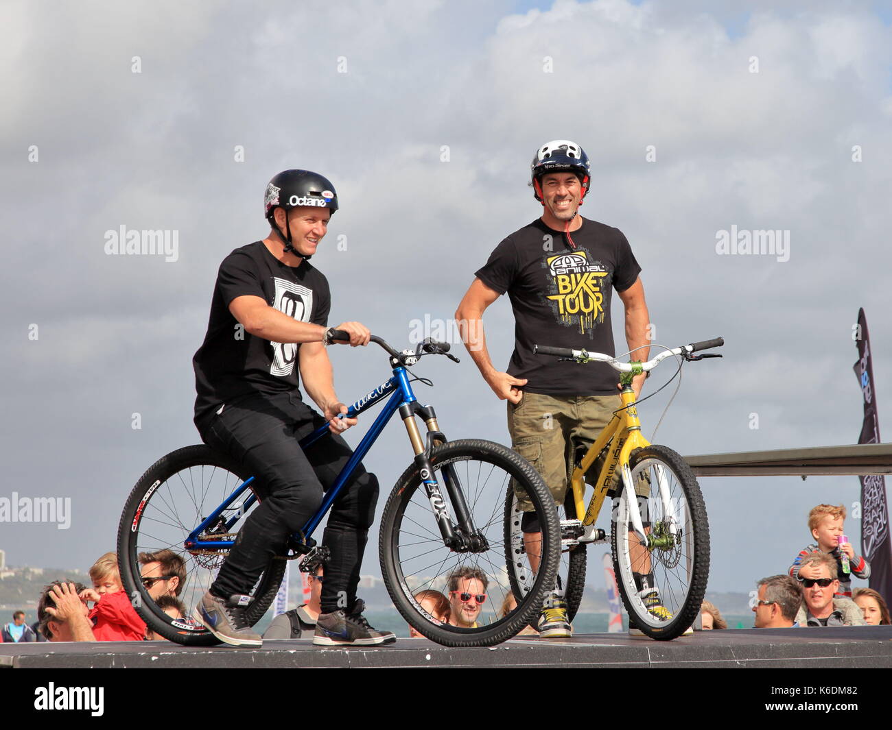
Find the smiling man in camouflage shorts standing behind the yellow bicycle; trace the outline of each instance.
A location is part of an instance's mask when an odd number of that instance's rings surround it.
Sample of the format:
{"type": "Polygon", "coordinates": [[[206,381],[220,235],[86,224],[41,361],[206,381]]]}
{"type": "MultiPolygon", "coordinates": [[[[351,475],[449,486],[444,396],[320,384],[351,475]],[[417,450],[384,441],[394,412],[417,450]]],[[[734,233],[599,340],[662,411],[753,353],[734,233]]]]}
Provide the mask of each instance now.
{"type": "MultiPolygon", "coordinates": [[[[536,151],[532,184],[542,215],[502,241],[458,305],[455,316],[471,357],[495,394],[508,400],[512,447],[548,484],[556,504],[567,490],[567,464],[576,444],[588,446],[618,408],[615,373],[533,354],[533,345],[587,349],[615,355],[610,300],[615,290],[625,308],[625,338],[632,357],[648,357],[648,307],[625,236],[577,214],[589,190],[590,163],[578,144],[555,140],[536,151]],[[515,317],[515,348],[506,372],[492,365],[483,335],[483,312],[508,293],[515,317]],[[552,428],[543,427],[550,414],[552,428]]],[[[637,398],[646,375],[632,381],[637,398]]],[[[518,495],[527,554],[536,554],[541,528],[533,505],[518,495]]],[[[635,574],[648,592],[651,612],[665,611],[649,574],[635,574]]],[[[655,614],[656,615],[656,614],[655,614]]],[[[562,586],[542,607],[540,635],[572,635],[562,586]]],[[[643,635],[642,635],[643,636],[643,635]]]]}

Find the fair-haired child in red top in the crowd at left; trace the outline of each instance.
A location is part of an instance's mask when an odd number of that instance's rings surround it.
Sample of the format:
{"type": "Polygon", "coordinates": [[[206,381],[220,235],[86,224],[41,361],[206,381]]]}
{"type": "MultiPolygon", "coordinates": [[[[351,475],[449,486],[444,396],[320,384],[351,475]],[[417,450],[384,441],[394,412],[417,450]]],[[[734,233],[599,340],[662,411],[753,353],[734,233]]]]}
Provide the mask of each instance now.
{"type": "Polygon", "coordinates": [[[95,603],[89,618],[94,621],[96,641],[142,641],[145,621],[139,618],[121,585],[118,556],[104,554],[90,568],[90,578],[93,588],[87,588],[79,595],[84,603],[95,603]]]}

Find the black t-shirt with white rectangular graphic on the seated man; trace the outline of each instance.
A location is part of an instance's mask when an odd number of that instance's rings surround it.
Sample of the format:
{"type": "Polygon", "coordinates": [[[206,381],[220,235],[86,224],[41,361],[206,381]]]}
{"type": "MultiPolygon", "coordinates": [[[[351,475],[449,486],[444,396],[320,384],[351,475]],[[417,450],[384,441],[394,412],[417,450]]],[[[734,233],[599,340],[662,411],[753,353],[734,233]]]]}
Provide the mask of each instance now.
{"type": "Polygon", "coordinates": [[[229,311],[229,303],[244,295],[260,297],[300,322],[328,324],[328,281],[309,261],[286,266],[261,241],[235,249],[220,264],[208,332],[192,359],[196,422],[239,396],[294,390],[299,384],[301,346],[245,332],[229,311]]]}

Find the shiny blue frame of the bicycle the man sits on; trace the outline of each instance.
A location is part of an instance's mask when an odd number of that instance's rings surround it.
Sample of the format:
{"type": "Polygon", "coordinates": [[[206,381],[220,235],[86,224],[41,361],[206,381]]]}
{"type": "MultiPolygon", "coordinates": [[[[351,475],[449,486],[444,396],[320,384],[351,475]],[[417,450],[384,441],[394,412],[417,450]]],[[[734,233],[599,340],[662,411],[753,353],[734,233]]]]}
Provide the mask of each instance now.
{"type": "MultiPolygon", "coordinates": [[[[375,390],[367,393],[362,398],[359,398],[350,408],[347,409],[347,414],[344,418],[355,418],[359,414],[368,411],[369,408],[375,406],[376,403],[380,402],[384,399],[385,396],[391,394],[390,399],[384,405],[384,410],[378,414],[378,417],[375,419],[375,422],[372,423],[371,427],[368,429],[368,432],[363,437],[363,439],[359,442],[359,446],[353,452],[350,460],[344,466],[341,473],[338,474],[337,479],[335,480],[335,484],[332,485],[331,488],[326,492],[325,498],[322,501],[322,504],[319,506],[318,511],[310,517],[310,521],[307,522],[301,529],[300,533],[293,535],[292,541],[296,545],[304,545],[306,547],[310,547],[311,544],[309,542],[310,536],[318,527],[319,522],[322,521],[322,518],[326,516],[328,509],[331,507],[332,503],[335,502],[337,496],[341,493],[343,486],[350,480],[351,474],[353,470],[356,469],[359,462],[368,454],[369,449],[375,443],[378,436],[381,435],[381,431],[384,431],[384,426],[387,425],[387,422],[390,421],[391,416],[399,411],[401,408],[411,407],[416,404],[417,399],[415,398],[415,394],[412,392],[412,386],[409,385],[409,375],[406,373],[406,368],[402,365],[395,366],[393,368],[393,376],[392,378],[379,385],[375,390]]],[[[319,439],[322,439],[329,432],[328,424],[326,423],[323,426],[319,426],[316,431],[310,433],[309,436],[301,439],[300,446],[302,449],[306,449],[315,444],[319,439]]],[[[198,536],[200,536],[205,530],[211,528],[211,526],[217,526],[219,528],[219,521],[223,513],[225,513],[228,509],[232,508],[232,505],[235,501],[242,495],[244,495],[245,490],[251,488],[253,477],[249,477],[247,480],[244,480],[235,491],[227,496],[226,500],[223,504],[220,504],[219,507],[214,510],[210,516],[205,518],[202,523],[195,528],[192,532],[189,533],[189,536],[186,537],[186,541],[184,545],[187,550],[201,550],[202,548],[206,549],[220,549],[220,548],[231,548],[235,543],[234,540],[202,540],[198,536]]],[[[450,489],[451,491],[451,489],[450,489]]],[[[239,505],[236,512],[232,514],[227,520],[224,522],[226,529],[225,532],[228,532],[232,529],[235,522],[238,521],[244,513],[251,508],[252,504],[257,501],[257,496],[254,495],[253,492],[249,494],[249,496],[244,500],[244,503],[239,505]]],[[[224,530],[219,529],[218,531],[224,532],[224,530]]]]}

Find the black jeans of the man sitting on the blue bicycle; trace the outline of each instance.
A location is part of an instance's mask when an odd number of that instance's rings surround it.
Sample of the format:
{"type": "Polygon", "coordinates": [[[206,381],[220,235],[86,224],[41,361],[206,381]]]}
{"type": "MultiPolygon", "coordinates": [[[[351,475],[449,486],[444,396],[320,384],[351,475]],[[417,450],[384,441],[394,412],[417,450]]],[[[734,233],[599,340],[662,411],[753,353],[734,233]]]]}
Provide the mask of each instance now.
{"type": "MultiPolygon", "coordinates": [[[[198,423],[208,446],[233,456],[255,476],[260,498],[211,586],[214,595],[249,594],[270,559],[284,554],[288,536],[322,504],[323,492],[353,453],[333,433],[303,452],[298,441],[325,422],[292,392],[243,396],[198,423]]],[[[359,464],[332,504],[322,537],[331,551],[322,584],[323,613],[353,607],[377,498],[378,480],[359,464]]]]}

